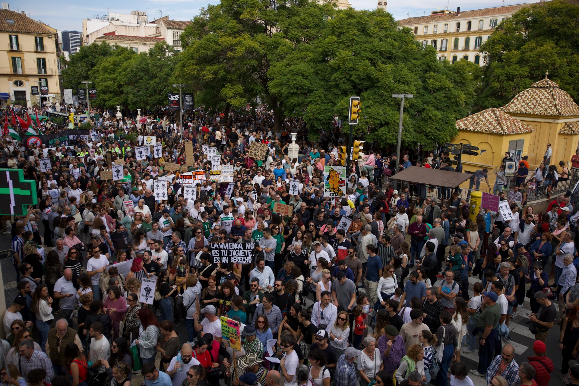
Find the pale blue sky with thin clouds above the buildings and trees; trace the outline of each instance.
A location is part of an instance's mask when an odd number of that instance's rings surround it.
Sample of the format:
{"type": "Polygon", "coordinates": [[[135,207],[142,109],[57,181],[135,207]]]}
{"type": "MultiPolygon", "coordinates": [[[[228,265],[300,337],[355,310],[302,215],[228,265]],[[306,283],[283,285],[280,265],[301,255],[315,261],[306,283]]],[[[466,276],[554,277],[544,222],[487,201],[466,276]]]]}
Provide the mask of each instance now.
{"type": "MultiPolygon", "coordinates": [[[[86,0],[85,0],[86,1],[86,0]]],[[[349,0],[355,9],[374,9],[378,0],[349,0]]],[[[24,11],[34,20],[40,20],[61,31],[82,31],[82,20],[91,19],[98,14],[108,12],[127,13],[131,10],[141,10],[148,13],[150,20],[161,16],[169,16],[171,20],[191,20],[199,13],[199,9],[208,3],[218,3],[218,0],[99,0],[87,6],[80,6],[84,1],[73,0],[21,0],[8,1],[11,10],[24,11]],[[98,5],[96,4],[98,3],[98,5]]],[[[390,0],[388,12],[394,19],[424,16],[433,10],[448,9],[471,10],[480,8],[512,5],[538,0],[390,0]]],[[[87,3],[89,3],[87,1],[87,3]]]]}

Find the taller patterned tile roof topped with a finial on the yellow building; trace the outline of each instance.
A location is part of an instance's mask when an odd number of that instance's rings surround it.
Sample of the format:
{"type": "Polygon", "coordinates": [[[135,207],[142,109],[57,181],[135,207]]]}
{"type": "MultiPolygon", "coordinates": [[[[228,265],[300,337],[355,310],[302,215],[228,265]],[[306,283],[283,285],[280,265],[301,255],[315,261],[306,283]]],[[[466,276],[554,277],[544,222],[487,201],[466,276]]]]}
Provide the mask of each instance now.
{"type": "Polygon", "coordinates": [[[501,109],[512,114],[579,115],[579,106],[571,98],[571,95],[561,90],[559,84],[548,79],[547,76],[518,93],[501,109]]]}

